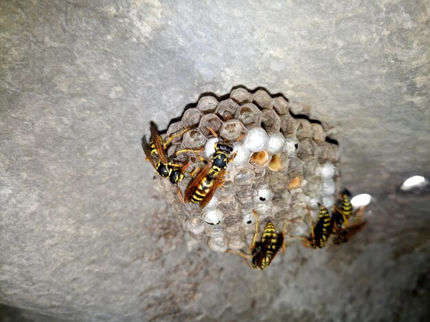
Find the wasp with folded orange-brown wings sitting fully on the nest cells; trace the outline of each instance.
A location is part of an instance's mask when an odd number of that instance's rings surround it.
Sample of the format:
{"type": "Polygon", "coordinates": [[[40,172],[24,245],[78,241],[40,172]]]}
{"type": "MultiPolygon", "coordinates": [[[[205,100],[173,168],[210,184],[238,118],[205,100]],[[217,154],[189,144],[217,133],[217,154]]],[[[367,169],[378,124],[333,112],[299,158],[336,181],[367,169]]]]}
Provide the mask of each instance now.
{"type": "MultiPolygon", "coordinates": [[[[217,136],[210,127],[208,129],[214,136],[217,136]]],[[[236,153],[232,152],[233,147],[231,145],[224,142],[215,143],[215,152],[185,190],[185,203],[190,201],[200,203],[200,208],[204,208],[209,203],[216,188],[223,182],[227,165],[236,156],[236,153]]]]}

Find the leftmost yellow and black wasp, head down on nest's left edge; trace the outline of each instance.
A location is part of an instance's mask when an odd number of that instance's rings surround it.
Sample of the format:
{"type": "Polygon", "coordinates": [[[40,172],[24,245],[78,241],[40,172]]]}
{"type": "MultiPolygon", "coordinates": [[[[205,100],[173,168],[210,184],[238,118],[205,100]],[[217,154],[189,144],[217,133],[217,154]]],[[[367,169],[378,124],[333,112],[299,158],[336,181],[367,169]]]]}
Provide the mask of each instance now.
{"type": "Polygon", "coordinates": [[[144,149],[146,160],[148,160],[152,166],[154,166],[155,171],[161,175],[161,177],[169,178],[172,184],[177,185],[179,198],[181,202],[183,201],[183,197],[181,194],[181,190],[179,190],[179,182],[183,180],[185,177],[184,171],[188,167],[188,163],[185,165],[176,164],[166,158],[166,148],[173,138],[177,138],[183,135],[185,132],[190,129],[189,127],[185,127],[179,134],[172,134],[168,137],[166,142],[163,142],[163,138],[159,135],[157,129],[155,129],[154,125],[150,125],[151,138],[149,144],[146,143],[145,137],[142,139],[142,148],[144,149]]]}

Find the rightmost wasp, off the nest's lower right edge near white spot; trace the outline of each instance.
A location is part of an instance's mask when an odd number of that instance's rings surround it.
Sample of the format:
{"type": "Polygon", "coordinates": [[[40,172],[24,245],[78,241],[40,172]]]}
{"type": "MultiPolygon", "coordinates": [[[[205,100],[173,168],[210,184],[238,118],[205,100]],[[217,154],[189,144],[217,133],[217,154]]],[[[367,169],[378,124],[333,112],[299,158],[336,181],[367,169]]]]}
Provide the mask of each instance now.
{"type": "Polygon", "coordinates": [[[332,234],[333,243],[339,245],[346,243],[352,236],[363,230],[367,221],[363,219],[364,208],[354,210],[351,203],[351,195],[348,190],[343,190],[340,194],[339,203],[333,206],[332,214],[332,234]],[[353,218],[354,222],[349,220],[353,218]]]}

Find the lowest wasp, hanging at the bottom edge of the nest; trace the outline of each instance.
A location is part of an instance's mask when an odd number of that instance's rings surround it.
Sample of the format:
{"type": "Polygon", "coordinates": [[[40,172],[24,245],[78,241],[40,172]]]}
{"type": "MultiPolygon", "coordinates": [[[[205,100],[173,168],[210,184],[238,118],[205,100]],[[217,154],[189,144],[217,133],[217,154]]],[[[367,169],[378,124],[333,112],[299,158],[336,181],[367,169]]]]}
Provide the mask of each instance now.
{"type": "Polygon", "coordinates": [[[242,251],[229,252],[238,253],[238,255],[242,256],[243,258],[251,260],[251,267],[253,269],[266,269],[269,267],[278,251],[282,252],[285,250],[286,223],[284,224],[284,227],[282,227],[282,232],[278,233],[276,232],[273,223],[268,221],[264,227],[261,240],[256,241],[258,236],[258,217],[255,210],[252,212],[256,217],[256,232],[254,233],[251,245],[249,245],[249,253],[243,253],[242,251]]]}

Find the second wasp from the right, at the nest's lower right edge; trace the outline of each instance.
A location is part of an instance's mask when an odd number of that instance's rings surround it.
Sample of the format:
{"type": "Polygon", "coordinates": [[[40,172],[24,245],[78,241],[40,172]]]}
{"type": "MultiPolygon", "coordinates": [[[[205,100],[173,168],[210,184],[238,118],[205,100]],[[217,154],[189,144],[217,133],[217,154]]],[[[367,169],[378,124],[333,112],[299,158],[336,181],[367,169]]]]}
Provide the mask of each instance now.
{"type": "Polygon", "coordinates": [[[303,240],[303,245],[306,247],[322,248],[326,245],[328,237],[332,233],[330,212],[328,212],[326,207],[321,205],[319,208],[317,225],[313,224],[309,210],[308,215],[310,219],[310,237],[300,238],[303,240]]]}

